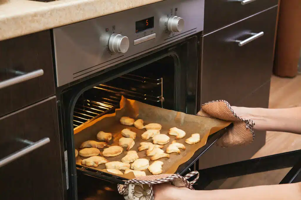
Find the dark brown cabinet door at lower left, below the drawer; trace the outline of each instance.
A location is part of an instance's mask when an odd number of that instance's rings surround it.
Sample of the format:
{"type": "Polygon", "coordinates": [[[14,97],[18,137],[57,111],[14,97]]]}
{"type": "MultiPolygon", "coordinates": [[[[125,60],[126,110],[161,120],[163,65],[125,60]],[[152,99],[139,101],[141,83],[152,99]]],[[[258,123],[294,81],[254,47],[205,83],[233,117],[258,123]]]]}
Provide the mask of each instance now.
{"type": "Polygon", "coordinates": [[[0,127],[1,199],[63,199],[56,98],[1,117],[0,127]],[[31,142],[37,148],[7,164],[2,162],[28,149],[31,142]]]}

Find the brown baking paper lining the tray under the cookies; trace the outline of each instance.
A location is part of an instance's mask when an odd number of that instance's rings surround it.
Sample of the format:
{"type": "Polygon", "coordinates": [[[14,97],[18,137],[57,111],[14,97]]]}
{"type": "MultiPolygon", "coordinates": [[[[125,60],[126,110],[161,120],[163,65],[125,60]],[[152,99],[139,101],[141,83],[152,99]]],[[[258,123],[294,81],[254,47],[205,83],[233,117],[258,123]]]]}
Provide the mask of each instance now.
{"type": "MultiPolygon", "coordinates": [[[[141,134],[144,133],[145,129],[136,129],[134,126],[124,126],[120,124],[120,117],[127,116],[132,117],[134,119],[142,119],[144,120],[144,125],[148,123],[159,123],[162,125],[162,129],[160,130],[161,134],[168,135],[169,129],[172,127],[177,127],[186,132],[186,136],[182,139],[177,140],[177,142],[185,145],[186,150],[181,150],[181,154],[171,153],[169,154],[170,158],[161,158],[159,160],[163,161],[163,173],[164,174],[173,174],[177,171],[177,168],[187,162],[194,153],[201,147],[203,147],[209,135],[227,127],[230,125],[230,122],[200,117],[195,115],[189,115],[182,112],[167,110],[163,108],[158,108],[155,106],[151,106],[148,104],[144,104],[135,100],[130,100],[122,97],[120,101],[120,108],[115,110],[113,114],[103,115],[90,123],[87,123],[83,126],[80,126],[74,129],[74,143],[77,150],[82,142],[87,140],[95,140],[98,141],[96,135],[99,131],[110,132],[113,135],[113,139],[109,142],[109,146],[118,145],[118,140],[122,137],[121,130],[125,128],[129,128],[132,131],[137,133],[135,139],[135,145],[130,150],[135,150],[138,152],[139,158],[146,158],[150,160],[151,156],[146,156],[146,150],[138,151],[138,147],[141,142],[152,142],[152,138],[148,140],[143,140],[141,138],[141,134]],[[191,134],[199,133],[201,137],[201,141],[197,144],[187,144],[185,143],[185,139],[189,138],[191,134]]],[[[168,144],[165,144],[163,147],[164,152],[166,152],[166,148],[172,141],[175,140],[175,136],[168,135],[170,137],[170,141],[168,144]]],[[[106,147],[105,147],[106,148],[106,147]]],[[[103,149],[100,149],[101,152],[103,149]]],[[[116,157],[105,157],[110,161],[121,161],[121,159],[126,155],[127,151],[124,147],[123,153],[116,157]]],[[[102,153],[101,153],[102,154],[102,153]]],[[[76,164],[81,165],[80,161],[85,159],[85,157],[78,156],[76,159],[76,164]]],[[[154,161],[150,161],[152,164],[154,161]]],[[[105,170],[105,165],[99,165],[97,168],[91,167],[93,169],[97,169],[100,171],[107,172],[105,170]]],[[[152,175],[148,170],[145,171],[146,175],[152,175]]],[[[114,174],[116,175],[116,174],[114,174]]],[[[125,177],[128,179],[134,178],[133,173],[128,173],[124,175],[117,175],[121,177],[125,177]]]]}

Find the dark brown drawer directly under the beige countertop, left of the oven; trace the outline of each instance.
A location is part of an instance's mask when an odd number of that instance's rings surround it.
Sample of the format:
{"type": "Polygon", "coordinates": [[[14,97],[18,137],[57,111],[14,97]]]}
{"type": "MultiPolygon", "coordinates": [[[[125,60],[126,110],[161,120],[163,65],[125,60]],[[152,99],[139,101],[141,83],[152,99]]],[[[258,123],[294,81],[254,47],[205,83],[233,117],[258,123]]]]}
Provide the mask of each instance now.
{"type": "Polygon", "coordinates": [[[54,95],[50,31],[0,42],[0,116],[54,95]]]}

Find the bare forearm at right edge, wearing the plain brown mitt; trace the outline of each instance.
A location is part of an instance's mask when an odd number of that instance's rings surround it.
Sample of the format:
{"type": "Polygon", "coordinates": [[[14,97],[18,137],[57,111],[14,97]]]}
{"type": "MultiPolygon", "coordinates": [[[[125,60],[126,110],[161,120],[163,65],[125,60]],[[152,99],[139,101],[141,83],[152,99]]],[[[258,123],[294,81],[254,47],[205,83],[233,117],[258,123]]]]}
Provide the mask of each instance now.
{"type": "Polygon", "coordinates": [[[254,121],[254,129],[301,134],[301,107],[268,109],[232,106],[241,118],[254,121]]]}

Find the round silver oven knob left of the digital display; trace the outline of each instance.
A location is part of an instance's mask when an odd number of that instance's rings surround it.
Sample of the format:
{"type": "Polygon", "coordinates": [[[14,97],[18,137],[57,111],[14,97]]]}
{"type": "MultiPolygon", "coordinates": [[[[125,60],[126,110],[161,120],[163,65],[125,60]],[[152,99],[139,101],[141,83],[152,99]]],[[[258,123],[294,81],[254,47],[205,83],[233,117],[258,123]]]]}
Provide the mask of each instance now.
{"type": "Polygon", "coordinates": [[[114,33],[109,38],[108,46],[112,53],[126,53],[130,46],[129,38],[114,33]]]}

